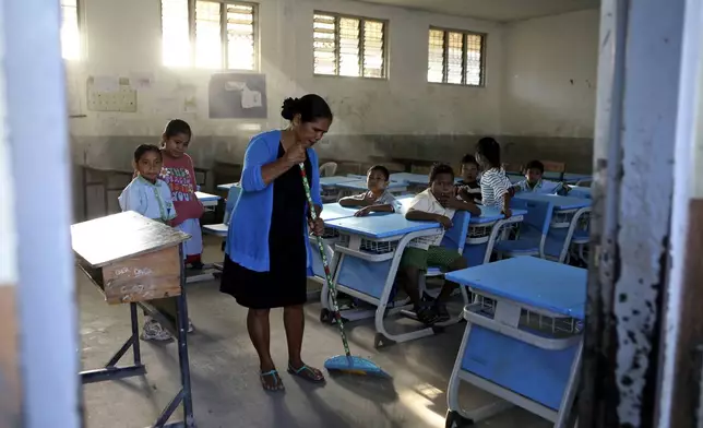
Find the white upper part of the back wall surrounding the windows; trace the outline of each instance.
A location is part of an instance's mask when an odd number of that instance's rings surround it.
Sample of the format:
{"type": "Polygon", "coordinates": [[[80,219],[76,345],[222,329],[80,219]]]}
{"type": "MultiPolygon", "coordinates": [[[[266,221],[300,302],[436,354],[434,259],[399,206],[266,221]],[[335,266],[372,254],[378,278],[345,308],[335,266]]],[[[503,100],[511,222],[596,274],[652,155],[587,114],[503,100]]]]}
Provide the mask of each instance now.
{"type": "MultiPolygon", "coordinates": [[[[69,91],[86,118],[72,119],[76,135],[158,135],[168,118],[189,121],[198,135],[251,134],[282,124],[283,98],[314,92],[327,98],[337,134],[466,134],[499,131],[501,26],[353,1],[260,0],[261,72],[266,74],[266,120],[207,118],[211,71],[160,66],[159,0],[83,0],[86,58],[69,63],[69,91]],[[389,80],[312,75],[313,10],[390,21],[389,80]],[[484,88],[427,83],[430,25],[487,32],[488,74],[484,88]],[[152,90],[140,91],[136,114],[94,112],[85,108],[88,75],[153,72],[152,90]],[[182,86],[195,85],[198,112],[183,114],[182,86]],[[176,103],[174,100],[177,100],[176,103]],[[180,102],[182,103],[182,102],[180,102]]],[[[79,150],[80,152],[80,150],[79,150]]],[[[76,153],[76,158],[81,158],[76,153]]],[[[97,162],[97,159],[96,159],[97,162]]]]}

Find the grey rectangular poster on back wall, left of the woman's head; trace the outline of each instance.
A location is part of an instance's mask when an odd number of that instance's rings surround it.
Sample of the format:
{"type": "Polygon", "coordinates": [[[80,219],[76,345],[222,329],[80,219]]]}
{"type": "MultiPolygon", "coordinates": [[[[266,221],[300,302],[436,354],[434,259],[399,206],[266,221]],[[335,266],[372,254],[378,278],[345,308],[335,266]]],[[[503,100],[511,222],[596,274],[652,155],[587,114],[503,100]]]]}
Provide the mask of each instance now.
{"type": "Polygon", "coordinates": [[[264,74],[213,74],[207,92],[211,119],[265,119],[269,116],[264,74]]]}

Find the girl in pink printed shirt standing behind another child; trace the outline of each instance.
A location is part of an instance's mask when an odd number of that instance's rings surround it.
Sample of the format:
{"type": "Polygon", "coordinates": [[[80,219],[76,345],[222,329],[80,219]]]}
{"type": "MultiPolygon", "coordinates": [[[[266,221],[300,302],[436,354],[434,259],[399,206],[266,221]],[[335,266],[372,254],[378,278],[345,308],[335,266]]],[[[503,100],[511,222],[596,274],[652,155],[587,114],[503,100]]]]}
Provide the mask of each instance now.
{"type": "Polygon", "coordinates": [[[200,217],[204,209],[195,195],[198,183],[193,159],[186,153],[191,136],[190,126],[183,120],[174,119],[166,124],[162,136],[164,166],[159,178],[166,181],[174,199],[177,215],[171,221],[171,226],[191,236],[183,243],[186,264],[202,269],[203,235],[200,217]]]}

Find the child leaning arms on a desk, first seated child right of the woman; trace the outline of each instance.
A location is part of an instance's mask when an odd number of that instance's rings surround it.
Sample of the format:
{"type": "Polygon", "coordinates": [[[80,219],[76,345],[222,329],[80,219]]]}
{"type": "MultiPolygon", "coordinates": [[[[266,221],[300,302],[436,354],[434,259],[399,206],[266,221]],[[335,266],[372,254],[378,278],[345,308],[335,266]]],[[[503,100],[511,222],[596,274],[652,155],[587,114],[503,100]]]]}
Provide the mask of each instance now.
{"type": "Polygon", "coordinates": [[[373,165],[366,173],[368,191],[353,197],[342,198],[339,205],[345,207],[360,206],[354,215],[361,217],[371,213],[394,213],[400,210],[398,202],[386,190],[391,173],[383,165],[373,165]]]}

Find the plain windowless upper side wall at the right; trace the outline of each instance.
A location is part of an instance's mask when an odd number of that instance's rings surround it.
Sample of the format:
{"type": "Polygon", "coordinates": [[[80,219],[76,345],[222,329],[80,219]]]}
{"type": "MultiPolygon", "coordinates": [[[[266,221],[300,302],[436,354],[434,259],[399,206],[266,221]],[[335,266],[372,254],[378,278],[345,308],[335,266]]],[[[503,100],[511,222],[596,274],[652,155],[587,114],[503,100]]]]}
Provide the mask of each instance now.
{"type": "Polygon", "coordinates": [[[502,134],[593,138],[598,10],[507,24],[502,134]]]}

